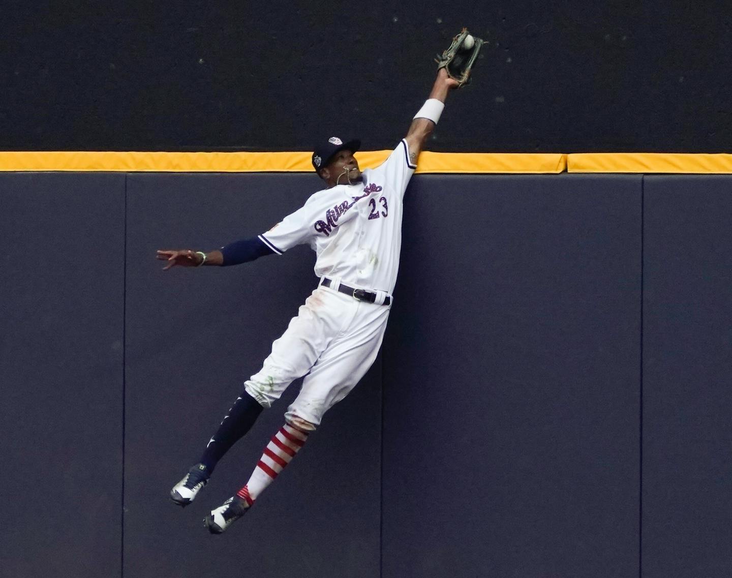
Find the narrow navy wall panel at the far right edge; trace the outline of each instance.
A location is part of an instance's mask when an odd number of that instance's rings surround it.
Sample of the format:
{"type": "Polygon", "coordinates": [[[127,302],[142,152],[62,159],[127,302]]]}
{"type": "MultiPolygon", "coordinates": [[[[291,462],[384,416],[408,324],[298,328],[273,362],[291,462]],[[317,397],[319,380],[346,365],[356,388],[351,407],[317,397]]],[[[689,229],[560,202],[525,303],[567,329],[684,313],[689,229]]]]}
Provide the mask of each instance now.
{"type": "Polygon", "coordinates": [[[727,578],[732,179],[643,187],[643,578],[727,578]]]}

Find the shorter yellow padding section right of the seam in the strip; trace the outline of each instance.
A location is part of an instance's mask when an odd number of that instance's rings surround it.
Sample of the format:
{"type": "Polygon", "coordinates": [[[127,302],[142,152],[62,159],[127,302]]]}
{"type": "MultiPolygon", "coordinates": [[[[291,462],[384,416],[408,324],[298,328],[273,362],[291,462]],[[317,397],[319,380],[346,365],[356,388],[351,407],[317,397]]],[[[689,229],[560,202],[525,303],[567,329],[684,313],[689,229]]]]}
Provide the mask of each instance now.
{"type": "Polygon", "coordinates": [[[581,153],[567,155],[569,173],[732,173],[732,154],[581,153]]]}

